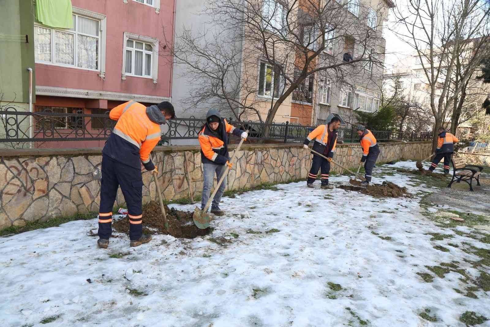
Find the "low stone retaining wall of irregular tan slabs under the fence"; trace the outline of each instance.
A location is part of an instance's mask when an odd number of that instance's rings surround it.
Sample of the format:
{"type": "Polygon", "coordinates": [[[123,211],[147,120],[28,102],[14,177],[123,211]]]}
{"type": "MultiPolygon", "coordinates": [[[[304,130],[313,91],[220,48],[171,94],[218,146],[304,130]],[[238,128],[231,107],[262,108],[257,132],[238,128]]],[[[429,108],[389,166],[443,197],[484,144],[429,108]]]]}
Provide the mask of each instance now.
{"type": "MultiPolygon", "coordinates": [[[[230,145],[230,156],[236,145],[230,145]]],[[[380,143],[378,162],[422,159],[430,154],[430,142],[380,143]]],[[[167,200],[188,198],[184,153],[194,193],[202,190],[202,167],[196,146],[156,147],[151,158],[158,167],[159,182],[167,200]]],[[[359,144],[339,144],[334,160],[357,165],[359,144]]],[[[26,221],[98,212],[101,149],[0,150],[0,229],[23,226],[26,221]]],[[[228,175],[228,190],[306,178],[310,151],[301,144],[244,145],[228,175]]],[[[332,171],[343,170],[333,165],[332,171]]],[[[335,182],[335,178],[332,178],[335,182]]],[[[156,199],[151,174],[143,172],[143,203],[156,199]]],[[[116,205],[124,204],[118,190],[116,205]]]]}

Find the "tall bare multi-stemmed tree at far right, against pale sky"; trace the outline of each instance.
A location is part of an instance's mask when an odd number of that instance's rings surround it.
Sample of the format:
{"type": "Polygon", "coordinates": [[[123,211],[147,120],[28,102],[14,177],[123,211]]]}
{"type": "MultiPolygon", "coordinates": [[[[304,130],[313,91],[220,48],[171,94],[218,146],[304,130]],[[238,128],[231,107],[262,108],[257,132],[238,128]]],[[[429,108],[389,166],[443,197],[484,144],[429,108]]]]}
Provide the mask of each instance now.
{"type": "MultiPolygon", "coordinates": [[[[427,78],[435,130],[443,125],[480,64],[482,50],[489,42],[489,12],[489,3],[480,0],[412,0],[395,11],[393,31],[416,50],[427,78]],[[451,75],[465,51],[471,54],[462,62],[458,84],[451,90],[451,75]]],[[[436,145],[435,132],[433,150],[436,145]]]]}

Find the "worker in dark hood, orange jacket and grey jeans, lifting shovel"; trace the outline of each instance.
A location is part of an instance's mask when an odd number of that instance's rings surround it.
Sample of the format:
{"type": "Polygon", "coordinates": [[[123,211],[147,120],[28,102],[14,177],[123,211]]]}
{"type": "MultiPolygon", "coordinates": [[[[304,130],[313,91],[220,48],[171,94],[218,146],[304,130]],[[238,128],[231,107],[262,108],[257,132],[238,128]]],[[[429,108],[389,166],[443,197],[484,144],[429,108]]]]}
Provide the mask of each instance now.
{"type": "MultiPolygon", "coordinates": [[[[221,118],[221,114],[216,109],[210,109],[206,114],[206,124],[199,132],[199,144],[201,145],[201,162],[204,175],[202,184],[201,210],[204,210],[209,200],[211,187],[213,186],[214,176],[220,180],[226,170],[225,165],[232,167],[228,161],[228,136],[227,133],[247,138],[247,132],[231,126],[226,119],[221,118]]],[[[211,202],[211,213],[222,216],[224,211],[219,207],[221,196],[226,188],[226,177],[216,192],[213,202],[211,202]]]]}

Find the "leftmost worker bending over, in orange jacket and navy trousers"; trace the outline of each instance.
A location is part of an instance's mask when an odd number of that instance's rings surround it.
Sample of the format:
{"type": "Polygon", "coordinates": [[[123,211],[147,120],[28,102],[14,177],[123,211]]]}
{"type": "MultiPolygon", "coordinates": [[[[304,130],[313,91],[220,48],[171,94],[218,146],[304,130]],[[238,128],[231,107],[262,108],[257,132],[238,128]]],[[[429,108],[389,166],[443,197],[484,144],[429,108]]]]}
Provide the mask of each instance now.
{"type": "Polygon", "coordinates": [[[169,101],[149,107],[128,101],[112,109],[109,117],[117,124],[102,149],[97,244],[102,249],[109,246],[112,208],[120,186],[128,209],[129,246],[137,247],[151,240],[151,235],[143,234],[141,225],[141,165],[149,172],[158,172],[149,154],[160,141],[166,120],[175,118],[175,111],[169,101]]]}

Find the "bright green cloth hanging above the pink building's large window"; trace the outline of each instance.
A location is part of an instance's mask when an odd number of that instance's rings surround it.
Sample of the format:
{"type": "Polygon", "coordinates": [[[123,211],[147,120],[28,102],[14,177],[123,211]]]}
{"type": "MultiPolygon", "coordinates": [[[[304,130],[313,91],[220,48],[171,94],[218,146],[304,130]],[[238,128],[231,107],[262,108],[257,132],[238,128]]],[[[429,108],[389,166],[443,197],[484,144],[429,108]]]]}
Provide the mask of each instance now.
{"type": "Polygon", "coordinates": [[[36,0],[36,18],[43,25],[73,28],[72,0],[36,0]]]}

